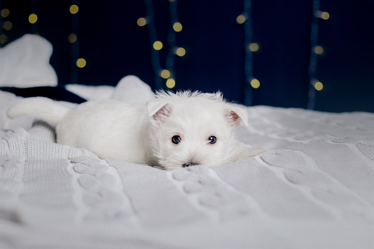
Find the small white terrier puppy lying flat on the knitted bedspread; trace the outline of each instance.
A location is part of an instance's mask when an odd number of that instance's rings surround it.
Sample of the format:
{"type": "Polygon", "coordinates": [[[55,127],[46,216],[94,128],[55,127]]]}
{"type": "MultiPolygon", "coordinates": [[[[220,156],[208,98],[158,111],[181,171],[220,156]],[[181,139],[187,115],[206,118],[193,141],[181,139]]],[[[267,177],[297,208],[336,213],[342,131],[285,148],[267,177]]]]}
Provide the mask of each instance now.
{"type": "Polygon", "coordinates": [[[33,97],[7,115],[56,124],[57,143],[91,150],[99,158],[165,169],[227,164],[263,152],[235,139],[240,121],[248,126],[248,112],[220,92],[159,91],[147,104],[91,100],[73,109],[33,97]]]}

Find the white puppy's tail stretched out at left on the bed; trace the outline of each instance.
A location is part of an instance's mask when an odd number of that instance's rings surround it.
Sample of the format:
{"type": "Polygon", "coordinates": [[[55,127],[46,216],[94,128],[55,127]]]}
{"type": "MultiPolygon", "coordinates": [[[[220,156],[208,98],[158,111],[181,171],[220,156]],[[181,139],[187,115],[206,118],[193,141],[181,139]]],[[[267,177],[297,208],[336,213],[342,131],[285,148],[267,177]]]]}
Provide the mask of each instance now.
{"type": "Polygon", "coordinates": [[[57,124],[70,108],[45,97],[25,98],[6,113],[9,118],[22,115],[34,116],[52,124],[57,124]]]}

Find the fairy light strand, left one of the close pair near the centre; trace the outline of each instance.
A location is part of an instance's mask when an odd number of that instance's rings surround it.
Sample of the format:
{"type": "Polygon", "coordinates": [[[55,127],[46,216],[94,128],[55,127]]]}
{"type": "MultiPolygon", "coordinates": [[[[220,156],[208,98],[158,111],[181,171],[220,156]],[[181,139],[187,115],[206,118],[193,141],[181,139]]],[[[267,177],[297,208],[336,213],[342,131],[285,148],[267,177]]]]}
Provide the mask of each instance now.
{"type": "MultiPolygon", "coordinates": [[[[150,39],[150,44],[153,46],[153,44],[157,41],[157,30],[156,30],[156,25],[154,24],[153,21],[153,16],[154,16],[154,9],[153,9],[153,3],[152,0],[144,0],[145,4],[145,21],[148,26],[148,33],[149,33],[149,39],[150,39]]],[[[160,58],[159,58],[159,52],[158,50],[154,49],[151,47],[151,64],[153,67],[153,72],[154,72],[154,84],[156,90],[159,90],[162,88],[162,78],[160,77],[160,72],[162,71],[161,65],[160,65],[160,58]]]]}

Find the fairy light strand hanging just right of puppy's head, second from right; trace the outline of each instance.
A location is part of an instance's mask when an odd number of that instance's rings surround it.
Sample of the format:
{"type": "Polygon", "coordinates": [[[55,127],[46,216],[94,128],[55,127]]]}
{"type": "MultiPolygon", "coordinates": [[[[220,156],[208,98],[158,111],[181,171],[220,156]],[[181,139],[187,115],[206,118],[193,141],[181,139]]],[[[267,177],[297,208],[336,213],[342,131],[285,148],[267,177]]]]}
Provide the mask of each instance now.
{"type": "Polygon", "coordinates": [[[245,61],[244,61],[244,72],[245,72],[245,89],[244,89],[244,105],[251,106],[253,102],[252,86],[251,81],[254,79],[253,76],[253,52],[249,49],[249,45],[253,40],[253,29],[252,29],[252,19],[251,19],[251,9],[252,1],[244,0],[244,10],[240,15],[237,22],[240,24],[244,20],[244,30],[245,30],[245,61]]]}

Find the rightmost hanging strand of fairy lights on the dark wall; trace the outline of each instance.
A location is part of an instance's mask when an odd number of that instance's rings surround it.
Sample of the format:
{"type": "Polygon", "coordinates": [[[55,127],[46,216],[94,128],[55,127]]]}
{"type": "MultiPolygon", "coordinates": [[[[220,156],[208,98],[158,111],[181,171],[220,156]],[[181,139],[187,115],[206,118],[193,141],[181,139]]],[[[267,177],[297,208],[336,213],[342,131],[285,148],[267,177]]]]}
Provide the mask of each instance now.
{"type": "Polygon", "coordinates": [[[316,104],[316,90],[321,91],[324,87],[323,84],[316,79],[317,69],[317,58],[324,52],[321,46],[318,46],[318,19],[329,19],[330,15],[328,12],[322,12],[319,10],[319,0],[313,0],[313,16],[310,32],[310,59],[309,59],[309,92],[308,92],[308,103],[307,109],[313,110],[316,104]]]}

